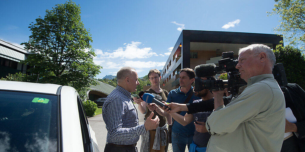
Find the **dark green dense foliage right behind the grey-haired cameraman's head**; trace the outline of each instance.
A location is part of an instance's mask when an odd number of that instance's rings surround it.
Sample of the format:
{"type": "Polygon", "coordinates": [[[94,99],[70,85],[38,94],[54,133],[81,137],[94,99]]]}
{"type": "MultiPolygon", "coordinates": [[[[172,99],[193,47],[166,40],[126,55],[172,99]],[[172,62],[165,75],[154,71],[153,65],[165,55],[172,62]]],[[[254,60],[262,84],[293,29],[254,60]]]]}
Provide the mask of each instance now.
{"type": "Polygon", "coordinates": [[[287,81],[296,83],[305,88],[305,56],[302,52],[292,46],[278,45],[274,50],[276,63],[282,63],[285,68],[287,81]]]}

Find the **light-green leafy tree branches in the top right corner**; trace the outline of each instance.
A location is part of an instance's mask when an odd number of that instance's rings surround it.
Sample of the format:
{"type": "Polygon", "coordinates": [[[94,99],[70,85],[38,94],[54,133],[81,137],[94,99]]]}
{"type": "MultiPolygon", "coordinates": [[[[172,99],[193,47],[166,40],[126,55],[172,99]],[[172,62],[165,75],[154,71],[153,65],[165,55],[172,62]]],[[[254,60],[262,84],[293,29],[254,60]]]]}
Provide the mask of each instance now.
{"type": "Polygon", "coordinates": [[[280,25],[274,30],[283,34],[286,41],[303,50],[305,46],[305,1],[303,0],[274,0],[273,12],[278,14],[280,25]]]}

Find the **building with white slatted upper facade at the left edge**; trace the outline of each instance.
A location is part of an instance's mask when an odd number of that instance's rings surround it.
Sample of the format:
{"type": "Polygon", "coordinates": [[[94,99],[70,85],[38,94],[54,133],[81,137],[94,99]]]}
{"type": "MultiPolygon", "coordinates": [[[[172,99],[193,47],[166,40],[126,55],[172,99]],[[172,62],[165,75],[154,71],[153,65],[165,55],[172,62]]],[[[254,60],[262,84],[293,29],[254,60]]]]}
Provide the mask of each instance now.
{"type": "Polygon", "coordinates": [[[20,61],[27,59],[29,51],[0,40],[0,78],[17,72],[26,73],[27,65],[20,61]]]}

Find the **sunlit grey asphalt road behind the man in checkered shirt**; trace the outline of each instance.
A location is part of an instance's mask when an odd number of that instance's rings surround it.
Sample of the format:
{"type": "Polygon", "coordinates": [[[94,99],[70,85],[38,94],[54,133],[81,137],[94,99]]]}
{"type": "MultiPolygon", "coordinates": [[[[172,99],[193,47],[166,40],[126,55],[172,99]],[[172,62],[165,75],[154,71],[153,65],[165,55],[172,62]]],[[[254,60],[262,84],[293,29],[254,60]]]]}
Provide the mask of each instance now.
{"type": "MultiPolygon", "coordinates": [[[[138,110],[137,104],[135,104],[135,107],[138,110]]],[[[139,124],[143,124],[144,123],[144,114],[142,114],[139,110],[138,110],[138,118],[139,118],[139,124]]],[[[105,144],[106,144],[107,130],[106,130],[106,124],[104,123],[102,114],[88,118],[88,122],[89,122],[90,126],[92,127],[93,131],[95,132],[95,137],[96,137],[97,143],[99,145],[99,150],[104,151],[105,144]]],[[[140,136],[140,140],[137,143],[138,151],[140,151],[140,145],[141,145],[141,136],[140,136]]]]}

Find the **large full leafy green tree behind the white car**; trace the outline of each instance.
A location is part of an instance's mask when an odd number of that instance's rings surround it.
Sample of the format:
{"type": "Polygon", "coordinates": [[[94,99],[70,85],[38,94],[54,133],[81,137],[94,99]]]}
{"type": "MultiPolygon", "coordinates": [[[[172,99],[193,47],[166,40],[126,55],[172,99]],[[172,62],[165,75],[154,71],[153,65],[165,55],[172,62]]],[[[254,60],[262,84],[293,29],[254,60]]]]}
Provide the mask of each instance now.
{"type": "Polygon", "coordinates": [[[72,1],[57,4],[30,24],[32,35],[21,44],[32,53],[23,61],[31,67],[27,79],[72,86],[84,98],[88,87],[97,85],[94,77],[101,67],[93,62],[91,34],[80,14],[80,5],[72,1]]]}

